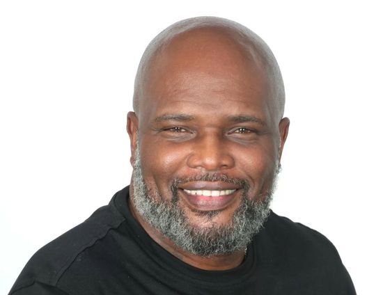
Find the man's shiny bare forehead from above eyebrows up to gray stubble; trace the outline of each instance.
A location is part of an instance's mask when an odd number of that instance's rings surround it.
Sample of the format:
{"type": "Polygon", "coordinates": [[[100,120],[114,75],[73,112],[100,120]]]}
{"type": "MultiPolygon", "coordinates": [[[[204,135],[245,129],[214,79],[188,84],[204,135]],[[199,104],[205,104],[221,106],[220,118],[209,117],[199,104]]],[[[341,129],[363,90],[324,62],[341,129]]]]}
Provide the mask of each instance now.
{"type": "Polygon", "coordinates": [[[143,84],[140,108],[146,117],[169,108],[216,115],[265,109],[272,99],[262,56],[242,43],[202,31],[164,44],[143,84]]]}

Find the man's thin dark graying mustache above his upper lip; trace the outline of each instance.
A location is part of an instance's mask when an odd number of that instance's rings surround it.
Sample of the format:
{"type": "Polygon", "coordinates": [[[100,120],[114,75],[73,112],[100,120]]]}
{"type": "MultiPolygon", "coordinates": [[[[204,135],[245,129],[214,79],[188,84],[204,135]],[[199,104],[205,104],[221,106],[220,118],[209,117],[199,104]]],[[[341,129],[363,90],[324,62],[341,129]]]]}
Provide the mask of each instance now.
{"type": "Polygon", "coordinates": [[[171,184],[171,191],[177,191],[180,184],[185,184],[187,182],[226,182],[228,184],[235,184],[244,191],[249,191],[249,182],[247,180],[228,177],[228,175],[222,173],[205,173],[203,175],[195,175],[192,177],[175,178],[173,184],[171,184]]]}

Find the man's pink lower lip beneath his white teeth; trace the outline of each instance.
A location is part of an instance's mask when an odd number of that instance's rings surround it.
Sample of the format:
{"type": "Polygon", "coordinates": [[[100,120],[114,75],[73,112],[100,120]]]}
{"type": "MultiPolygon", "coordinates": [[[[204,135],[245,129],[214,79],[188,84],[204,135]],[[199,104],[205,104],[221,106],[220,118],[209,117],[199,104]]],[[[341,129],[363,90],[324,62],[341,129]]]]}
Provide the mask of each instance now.
{"type": "Polygon", "coordinates": [[[185,199],[189,205],[192,205],[194,209],[200,211],[222,210],[235,200],[238,193],[238,190],[236,190],[234,193],[230,193],[230,195],[208,197],[201,195],[189,195],[189,193],[186,193],[182,189],[179,191],[181,192],[182,196],[185,196],[185,199]]]}

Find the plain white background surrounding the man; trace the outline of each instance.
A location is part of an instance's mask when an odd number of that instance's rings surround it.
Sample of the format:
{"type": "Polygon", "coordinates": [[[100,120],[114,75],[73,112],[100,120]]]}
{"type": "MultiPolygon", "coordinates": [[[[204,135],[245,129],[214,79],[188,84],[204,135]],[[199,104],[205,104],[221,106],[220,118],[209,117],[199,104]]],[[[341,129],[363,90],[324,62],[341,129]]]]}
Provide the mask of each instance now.
{"type": "Polygon", "coordinates": [[[216,15],[272,48],[290,134],[272,205],[325,234],[382,294],[379,1],[1,1],[0,293],[29,257],[130,182],[125,116],[166,26],[216,15]]]}

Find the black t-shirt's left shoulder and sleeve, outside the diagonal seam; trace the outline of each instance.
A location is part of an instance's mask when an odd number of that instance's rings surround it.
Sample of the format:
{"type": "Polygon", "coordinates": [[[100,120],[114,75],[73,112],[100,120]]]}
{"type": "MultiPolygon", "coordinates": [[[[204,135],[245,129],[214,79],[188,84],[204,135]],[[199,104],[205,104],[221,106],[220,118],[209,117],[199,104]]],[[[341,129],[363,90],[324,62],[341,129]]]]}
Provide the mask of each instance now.
{"type": "Polygon", "coordinates": [[[102,242],[111,230],[116,230],[125,221],[114,205],[118,193],[109,205],[100,207],[86,221],[40,248],[20,273],[10,294],[23,294],[17,290],[25,288],[29,288],[28,292],[36,287],[54,288],[84,250],[102,242]]]}

